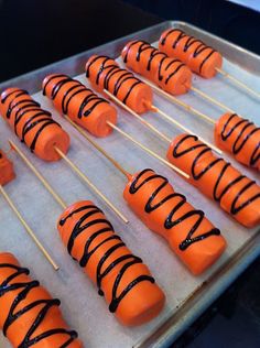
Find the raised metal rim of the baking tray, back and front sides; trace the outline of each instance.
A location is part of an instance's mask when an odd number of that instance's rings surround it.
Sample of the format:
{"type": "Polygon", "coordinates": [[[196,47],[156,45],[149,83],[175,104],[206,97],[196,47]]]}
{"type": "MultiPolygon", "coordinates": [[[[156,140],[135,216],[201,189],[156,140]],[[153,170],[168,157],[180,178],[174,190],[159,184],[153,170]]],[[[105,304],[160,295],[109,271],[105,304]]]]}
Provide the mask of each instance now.
{"type": "MultiPolygon", "coordinates": [[[[221,42],[224,46],[229,46],[241,56],[238,62],[242,61],[246,56],[249,57],[249,63],[253,63],[251,70],[254,70],[260,75],[260,56],[235,44],[230,43],[215,34],[210,34],[207,31],[204,31],[195,25],[192,25],[184,21],[162,21],[159,24],[149,26],[147,29],[140,30],[138,32],[133,32],[126,36],[116,39],[97,47],[93,47],[90,50],[80,52],[76,55],[69,56],[62,61],[48,64],[35,70],[25,73],[18,77],[11,78],[7,81],[0,83],[0,91],[7,87],[20,85],[21,88],[26,88],[25,86],[30,85],[30,93],[35,93],[40,88],[37,83],[34,83],[33,79],[40,78],[40,76],[45,76],[46,73],[52,70],[58,70],[61,67],[66,69],[72,62],[72,73],[69,75],[77,75],[76,65],[86,59],[87,56],[94,53],[100,53],[107,51],[110,46],[120,46],[121,43],[134,37],[136,35],[144,35],[150,31],[160,31],[163,28],[185,28],[189,31],[198,31],[203,35],[210,36],[216,42],[221,42]],[[65,67],[64,67],[65,66],[65,67]],[[75,73],[73,73],[75,72],[75,73]]],[[[218,45],[217,45],[218,46],[218,45]]],[[[243,67],[243,66],[242,66],[243,67]]],[[[42,79],[40,79],[42,80],[42,79]]],[[[202,284],[194,293],[188,296],[185,302],[178,307],[178,309],[170,315],[160,326],[158,326],[152,333],[150,333],[147,337],[142,338],[139,342],[137,342],[134,348],[145,348],[145,347],[154,347],[154,348],[164,348],[169,347],[171,342],[173,342],[260,255],[260,229],[258,229],[254,235],[240,248],[235,252],[230,260],[214,272],[209,279],[202,284]],[[212,279],[214,280],[209,282],[212,279]],[[205,296],[207,294],[207,296],[205,296]],[[174,324],[174,325],[173,325],[174,324]],[[151,346],[152,345],[152,346],[151,346]]]]}

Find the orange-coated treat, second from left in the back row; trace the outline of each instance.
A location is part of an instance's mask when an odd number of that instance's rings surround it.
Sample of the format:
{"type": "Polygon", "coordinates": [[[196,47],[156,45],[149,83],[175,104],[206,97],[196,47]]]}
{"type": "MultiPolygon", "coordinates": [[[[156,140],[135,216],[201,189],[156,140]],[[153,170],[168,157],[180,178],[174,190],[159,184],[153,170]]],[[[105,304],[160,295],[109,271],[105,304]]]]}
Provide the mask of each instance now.
{"type": "Polygon", "coordinates": [[[67,115],[95,137],[107,137],[117,123],[117,110],[106,99],[67,75],[53,74],[44,78],[43,93],[53,100],[59,113],[67,115]]]}

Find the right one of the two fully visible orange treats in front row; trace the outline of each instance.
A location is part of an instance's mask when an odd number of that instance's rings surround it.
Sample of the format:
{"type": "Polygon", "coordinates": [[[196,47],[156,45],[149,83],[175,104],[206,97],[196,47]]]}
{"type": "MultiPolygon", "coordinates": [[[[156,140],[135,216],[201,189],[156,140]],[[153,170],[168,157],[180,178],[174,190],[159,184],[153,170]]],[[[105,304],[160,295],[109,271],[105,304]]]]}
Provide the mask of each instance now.
{"type": "Polygon", "coordinates": [[[154,171],[133,174],[123,198],[144,225],[167,240],[194,274],[203,273],[224,252],[226,241],[220,231],[154,171]]]}

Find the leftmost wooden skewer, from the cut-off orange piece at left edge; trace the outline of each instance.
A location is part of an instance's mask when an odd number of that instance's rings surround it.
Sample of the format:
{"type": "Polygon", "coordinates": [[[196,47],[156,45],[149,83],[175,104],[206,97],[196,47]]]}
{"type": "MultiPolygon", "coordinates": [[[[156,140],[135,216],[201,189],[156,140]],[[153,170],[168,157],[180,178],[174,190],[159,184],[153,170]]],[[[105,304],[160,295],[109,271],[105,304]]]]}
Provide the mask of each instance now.
{"type": "Polygon", "coordinates": [[[29,236],[33,239],[33,241],[35,242],[35,244],[37,246],[37,248],[42,251],[42,253],[44,254],[44,257],[47,259],[47,261],[52,264],[52,267],[54,268],[55,271],[57,271],[59,268],[58,265],[55,263],[55,261],[53,261],[52,257],[50,255],[50,253],[46,251],[46,249],[43,247],[43,244],[40,242],[40,240],[37,239],[37,237],[35,236],[34,231],[31,229],[31,227],[28,225],[28,222],[24,220],[24,218],[22,217],[21,213],[18,210],[18,208],[15,207],[15,205],[13,204],[12,199],[9,197],[9,195],[6,193],[4,188],[0,185],[0,192],[3,195],[4,199],[7,200],[7,203],[9,204],[10,208],[13,210],[13,213],[17,215],[18,219],[20,220],[20,222],[23,225],[23,227],[25,228],[26,232],[29,233],[29,236]]]}

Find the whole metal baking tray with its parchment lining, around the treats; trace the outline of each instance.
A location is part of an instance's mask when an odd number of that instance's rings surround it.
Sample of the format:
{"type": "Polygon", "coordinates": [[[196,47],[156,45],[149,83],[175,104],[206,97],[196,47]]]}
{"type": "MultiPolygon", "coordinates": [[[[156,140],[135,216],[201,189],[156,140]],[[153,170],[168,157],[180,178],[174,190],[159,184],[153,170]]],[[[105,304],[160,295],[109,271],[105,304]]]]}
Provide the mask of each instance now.
{"type": "MultiPolygon", "coordinates": [[[[26,153],[33,164],[55,187],[57,193],[72,204],[80,199],[93,199],[99,205],[120,233],[129,248],[149,265],[152,274],[166,294],[166,305],[161,315],[148,325],[138,328],[122,327],[108,312],[105,301],[98,296],[95,286],[80,268],[67,254],[56,231],[56,221],[62,213],[54,199],[44,189],[40,182],[25,167],[21,160],[11,152],[10,157],[15,164],[18,177],[7,186],[7,192],[36,231],[44,246],[53,254],[61,265],[58,272],[53,271],[43,259],[40,251],[25,235],[9,207],[0,197],[1,211],[1,250],[13,252],[24,267],[31,269],[31,274],[39,279],[50,292],[62,300],[62,311],[69,325],[77,329],[79,337],[88,348],[119,348],[119,347],[167,347],[205,311],[230,283],[259,255],[260,237],[259,229],[246,229],[225,214],[214,202],[188,186],[170,168],[160,164],[154,159],[144,154],[136,145],[113,133],[106,139],[97,140],[106,150],[115,156],[130,172],[137,172],[144,167],[152,167],[156,172],[170,178],[177,192],[182,192],[197,208],[204,209],[206,216],[220,228],[228,241],[225,254],[202,276],[193,276],[172,253],[166,242],[151,232],[124,205],[122,191],[124,178],[117,170],[97,153],[82,135],[79,135],[58,113],[51,102],[40,93],[43,78],[50,73],[65,73],[71,76],[84,77],[84,65],[91,54],[106,54],[118,57],[124,43],[131,39],[142,39],[154,43],[159,35],[167,28],[181,28],[209,45],[219,50],[225,56],[226,70],[239,76],[241,80],[260,90],[260,57],[220,37],[214,36],[198,28],[183,22],[163,22],[155,26],[142,30],[126,37],[116,40],[99,47],[86,51],[65,61],[52,64],[39,70],[20,76],[0,85],[0,89],[10,86],[19,86],[28,89],[42,102],[44,108],[53,111],[54,119],[58,120],[71,133],[72,145],[68,153],[73,160],[130,219],[127,226],[111,213],[104,203],[98,199],[80,180],[71,172],[66,164],[44,163],[31,154],[25,146],[20,148],[26,153]],[[120,149],[120,150],[119,150],[120,149]]],[[[217,76],[210,80],[194,76],[194,85],[218,98],[239,113],[249,117],[259,123],[259,105],[253,98],[232,86],[224,77],[217,76]]],[[[192,93],[180,97],[217,119],[221,111],[203,101],[192,93]]],[[[201,135],[213,141],[213,127],[198,118],[186,113],[184,110],[155,96],[154,104],[163,110],[181,120],[194,131],[199,130],[201,135]]],[[[147,120],[164,131],[167,135],[175,137],[178,130],[160,120],[154,115],[144,116],[147,120]]],[[[119,126],[127,132],[134,134],[141,142],[165,155],[167,145],[155,139],[130,115],[119,109],[119,126]]],[[[0,148],[8,151],[8,139],[19,143],[8,126],[0,120],[0,148]]],[[[235,166],[250,177],[259,181],[257,173],[236,163],[225,154],[235,166]]],[[[10,347],[6,338],[0,336],[0,347],[10,347]]]]}

